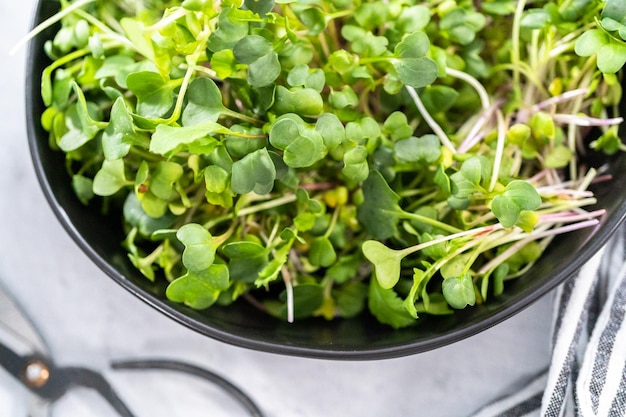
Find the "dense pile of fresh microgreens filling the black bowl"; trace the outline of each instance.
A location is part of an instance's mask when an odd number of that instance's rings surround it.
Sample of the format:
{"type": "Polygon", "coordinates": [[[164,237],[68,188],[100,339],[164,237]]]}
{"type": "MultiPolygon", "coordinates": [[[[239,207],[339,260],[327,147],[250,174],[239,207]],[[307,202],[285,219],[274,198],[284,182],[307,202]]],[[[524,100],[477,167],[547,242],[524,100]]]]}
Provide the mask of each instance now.
{"type": "Polygon", "coordinates": [[[173,301],[408,326],[603,213],[624,0],[61,6],[43,126],[173,301]]]}

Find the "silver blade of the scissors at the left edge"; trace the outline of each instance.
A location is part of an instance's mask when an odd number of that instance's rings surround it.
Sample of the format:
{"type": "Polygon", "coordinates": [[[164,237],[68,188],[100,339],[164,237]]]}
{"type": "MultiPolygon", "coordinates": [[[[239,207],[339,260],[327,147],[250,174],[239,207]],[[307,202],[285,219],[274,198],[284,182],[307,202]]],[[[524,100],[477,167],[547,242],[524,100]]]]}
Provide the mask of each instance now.
{"type": "Polygon", "coordinates": [[[3,285],[0,285],[0,341],[19,355],[48,352],[35,325],[3,285]]]}

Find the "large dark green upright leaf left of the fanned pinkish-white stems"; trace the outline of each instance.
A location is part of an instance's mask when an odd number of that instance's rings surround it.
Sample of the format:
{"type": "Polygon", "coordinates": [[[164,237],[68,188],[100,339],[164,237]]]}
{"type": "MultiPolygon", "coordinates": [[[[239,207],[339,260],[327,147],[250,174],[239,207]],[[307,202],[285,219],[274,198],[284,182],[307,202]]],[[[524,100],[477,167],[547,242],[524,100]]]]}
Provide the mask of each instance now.
{"type": "Polygon", "coordinates": [[[389,187],[378,171],[372,171],[363,183],[363,203],[357,218],[375,239],[384,240],[397,232],[400,197],[389,187]]]}

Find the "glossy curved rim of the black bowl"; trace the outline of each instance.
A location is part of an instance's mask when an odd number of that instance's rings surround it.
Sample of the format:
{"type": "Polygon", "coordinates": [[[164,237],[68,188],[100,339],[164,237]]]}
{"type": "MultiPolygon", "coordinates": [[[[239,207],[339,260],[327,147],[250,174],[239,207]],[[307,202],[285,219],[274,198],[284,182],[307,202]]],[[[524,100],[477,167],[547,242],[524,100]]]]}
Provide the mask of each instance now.
{"type": "MultiPolygon", "coordinates": [[[[37,3],[33,18],[34,24],[32,27],[35,27],[36,24],[39,23],[38,18],[42,13],[43,3],[44,1],[42,0],[37,3]]],[[[34,62],[35,56],[40,53],[41,51],[35,48],[34,43],[31,42],[27,51],[27,62],[34,62]]],[[[30,67],[27,66],[27,68],[30,67]]],[[[272,343],[263,340],[250,339],[204,325],[203,323],[185,315],[184,312],[176,309],[174,306],[156,297],[154,294],[139,288],[104,259],[102,259],[83,238],[83,236],[81,236],[72,219],[63,209],[59,200],[57,200],[51,184],[46,178],[41,155],[37,150],[35,137],[36,126],[39,124],[39,120],[32,112],[33,106],[35,105],[35,97],[40,91],[35,87],[36,81],[38,81],[38,79],[34,76],[33,72],[27,70],[25,78],[25,107],[28,146],[35,174],[43,191],[44,197],[65,231],[70,235],[78,247],[80,247],[80,249],[87,255],[87,257],[103,272],[105,272],[106,275],[112,278],[131,294],[142,300],[144,303],[197,333],[242,348],[315,359],[381,360],[422,353],[456,343],[502,323],[503,321],[526,309],[538,299],[542,298],[554,288],[562,284],[568,278],[572,277],[583,266],[584,260],[591,259],[605,245],[611,235],[626,218],[625,198],[620,202],[618,209],[616,210],[620,215],[608,217],[596,227],[596,230],[594,230],[590,235],[593,236],[593,238],[590,238],[588,244],[580,250],[577,262],[568,264],[565,268],[559,270],[557,274],[550,277],[550,279],[546,279],[539,285],[535,286],[532,291],[528,291],[524,294],[518,294],[516,297],[513,297],[512,302],[505,303],[503,307],[493,312],[488,317],[478,322],[470,321],[469,323],[463,323],[460,327],[455,327],[452,331],[442,333],[430,339],[417,340],[412,343],[405,343],[384,348],[369,348],[365,346],[363,349],[359,350],[310,348],[299,345],[291,345],[288,343],[272,343]]]]}

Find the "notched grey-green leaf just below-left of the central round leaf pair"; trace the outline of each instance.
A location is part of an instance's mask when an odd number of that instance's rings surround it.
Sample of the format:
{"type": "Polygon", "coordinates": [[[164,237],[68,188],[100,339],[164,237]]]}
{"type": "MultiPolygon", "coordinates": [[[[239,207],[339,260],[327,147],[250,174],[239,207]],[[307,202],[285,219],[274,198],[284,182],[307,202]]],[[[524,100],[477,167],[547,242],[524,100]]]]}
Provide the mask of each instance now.
{"type": "Polygon", "coordinates": [[[236,194],[268,194],[274,188],[276,167],[266,148],[233,163],[231,187],[236,194]]]}

